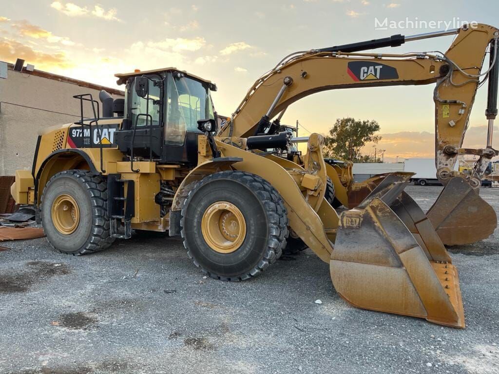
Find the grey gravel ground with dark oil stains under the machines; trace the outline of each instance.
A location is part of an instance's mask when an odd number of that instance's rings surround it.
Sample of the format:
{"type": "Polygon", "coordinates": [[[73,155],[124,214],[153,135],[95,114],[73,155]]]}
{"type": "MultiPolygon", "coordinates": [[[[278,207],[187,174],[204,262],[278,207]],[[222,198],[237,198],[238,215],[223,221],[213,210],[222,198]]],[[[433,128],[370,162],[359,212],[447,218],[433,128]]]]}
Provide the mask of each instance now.
{"type": "MultiPolygon", "coordinates": [[[[427,209],[441,187],[406,190],[427,209]]],[[[465,330],[347,305],[310,250],[225,283],[164,235],[81,257],[2,245],[0,373],[499,373],[498,230],[450,248],[465,330]]]]}

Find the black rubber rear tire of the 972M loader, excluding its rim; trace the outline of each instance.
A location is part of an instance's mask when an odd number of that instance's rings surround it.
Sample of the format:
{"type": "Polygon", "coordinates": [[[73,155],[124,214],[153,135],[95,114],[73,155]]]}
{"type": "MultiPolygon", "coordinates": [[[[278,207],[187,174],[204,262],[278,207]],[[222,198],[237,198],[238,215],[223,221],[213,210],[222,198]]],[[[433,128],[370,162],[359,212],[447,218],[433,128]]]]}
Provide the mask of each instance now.
{"type": "Polygon", "coordinates": [[[48,181],[41,196],[40,217],[48,242],[61,253],[94,253],[106,249],[115,239],[109,233],[107,182],[86,170],[60,172],[48,181]],[[52,203],[61,193],[72,196],[80,210],[78,227],[68,235],[55,228],[51,217],[52,203]]]}

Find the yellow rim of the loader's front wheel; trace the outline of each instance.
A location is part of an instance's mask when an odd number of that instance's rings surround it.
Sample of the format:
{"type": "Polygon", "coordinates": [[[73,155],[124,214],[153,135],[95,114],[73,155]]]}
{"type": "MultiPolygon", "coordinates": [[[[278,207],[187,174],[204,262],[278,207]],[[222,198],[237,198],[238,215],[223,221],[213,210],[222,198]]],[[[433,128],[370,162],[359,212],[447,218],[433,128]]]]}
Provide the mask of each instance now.
{"type": "Polygon", "coordinates": [[[239,208],[227,201],[211,204],[201,219],[206,243],[216,252],[236,251],[246,237],[246,221],[239,208]]]}

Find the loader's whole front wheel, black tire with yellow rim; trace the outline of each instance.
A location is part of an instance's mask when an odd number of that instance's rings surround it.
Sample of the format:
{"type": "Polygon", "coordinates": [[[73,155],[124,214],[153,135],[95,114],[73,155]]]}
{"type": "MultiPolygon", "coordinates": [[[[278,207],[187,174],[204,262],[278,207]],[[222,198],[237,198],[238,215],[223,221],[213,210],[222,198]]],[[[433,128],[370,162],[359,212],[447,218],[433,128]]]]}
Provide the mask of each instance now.
{"type": "Polygon", "coordinates": [[[215,279],[259,275],[286,245],[287,212],[262,178],[226,171],[203,178],[182,209],[182,237],[194,264],[215,279]]]}

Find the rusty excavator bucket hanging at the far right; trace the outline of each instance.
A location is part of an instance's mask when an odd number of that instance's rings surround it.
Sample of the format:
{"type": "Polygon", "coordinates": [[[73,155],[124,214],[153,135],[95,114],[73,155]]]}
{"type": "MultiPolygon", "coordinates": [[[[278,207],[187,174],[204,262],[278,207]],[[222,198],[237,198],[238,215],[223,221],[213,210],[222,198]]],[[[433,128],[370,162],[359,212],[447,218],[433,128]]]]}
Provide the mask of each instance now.
{"type": "Polygon", "coordinates": [[[447,245],[474,243],[497,227],[494,208],[463,178],[452,178],[426,215],[447,245]]]}

